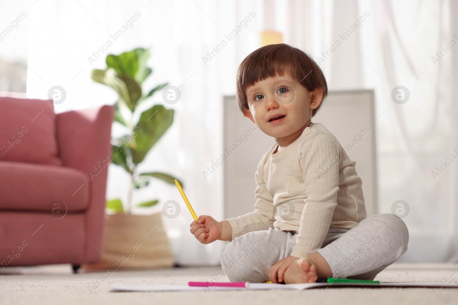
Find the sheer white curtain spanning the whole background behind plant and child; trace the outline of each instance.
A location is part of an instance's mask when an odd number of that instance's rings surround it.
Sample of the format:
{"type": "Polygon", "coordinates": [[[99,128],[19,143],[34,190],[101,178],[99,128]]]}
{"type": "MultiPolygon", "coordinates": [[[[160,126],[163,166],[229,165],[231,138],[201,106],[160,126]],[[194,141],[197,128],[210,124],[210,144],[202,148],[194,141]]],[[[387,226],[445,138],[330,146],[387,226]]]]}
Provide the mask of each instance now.
{"type": "MultiPolygon", "coordinates": [[[[148,65],[154,78],[144,84],[145,90],[167,81],[180,88],[181,100],[164,104],[175,110],[174,123],[139,170],[180,177],[196,213],[222,219],[223,173],[216,171],[205,180],[202,171],[224,149],[222,96],[235,93],[240,61],[259,47],[264,10],[275,12],[271,28],[284,34],[285,43],[311,52],[320,61],[331,90],[375,89],[379,213],[390,213],[397,200],[410,207],[403,219],[410,232],[409,250],[401,261],[456,261],[458,161],[436,179],[431,175],[441,161],[452,154],[458,157],[453,151],[458,148],[453,120],[457,114],[453,102],[457,97],[453,87],[457,51],[443,52],[436,64],[431,60],[451,40],[458,42],[453,37],[458,31],[452,23],[456,21],[451,16],[457,12],[452,2],[38,1],[30,8],[27,94],[45,98],[51,86],[64,87],[67,100],[56,105],[58,112],[112,103],[114,93],[93,83],[89,71],[104,69],[106,54],[151,46],[148,65]],[[87,57],[136,11],[142,16],[134,26],[101,59],[89,64],[87,57]],[[236,29],[251,11],[256,16],[228,41],[224,35],[236,29]],[[344,40],[339,35],[347,30],[351,35],[344,40]],[[218,47],[222,40],[227,44],[218,47]],[[337,40],[341,44],[333,47],[337,40]],[[205,64],[202,57],[208,57],[213,47],[221,50],[205,64]],[[335,50],[331,53],[328,48],[335,50]],[[391,93],[396,86],[408,88],[408,102],[393,102],[391,93]]],[[[153,103],[164,102],[155,96],[145,109],[153,103]]],[[[110,167],[109,198],[125,198],[126,186],[124,172],[110,167]]],[[[151,188],[153,191],[146,188],[136,193],[134,201],[158,198],[161,206],[169,199],[182,202],[174,186],[155,182],[151,188]]],[[[161,206],[153,210],[159,211],[161,206]]],[[[189,233],[191,221],[184,205],[178,218],[164,218],[177,262],[218,264],[224,243],[199,244],[189,233]]]]}

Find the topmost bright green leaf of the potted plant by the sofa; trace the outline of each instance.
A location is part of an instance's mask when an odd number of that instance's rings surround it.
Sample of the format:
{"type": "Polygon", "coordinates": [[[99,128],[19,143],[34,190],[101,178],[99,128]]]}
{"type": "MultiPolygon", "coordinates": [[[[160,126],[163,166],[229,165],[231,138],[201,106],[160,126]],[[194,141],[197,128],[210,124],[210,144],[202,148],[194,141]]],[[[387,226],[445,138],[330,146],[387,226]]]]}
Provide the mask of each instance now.
{"type": "Polygon", "coordinates": [[[110,54],[107,56],[107,66],[116,70],[118,75],[128,75],[142,84],[152,72],[150,68],[146,67],[149,55],[149,49],[144,48],[136,48],[118,56],[110,54]]]}

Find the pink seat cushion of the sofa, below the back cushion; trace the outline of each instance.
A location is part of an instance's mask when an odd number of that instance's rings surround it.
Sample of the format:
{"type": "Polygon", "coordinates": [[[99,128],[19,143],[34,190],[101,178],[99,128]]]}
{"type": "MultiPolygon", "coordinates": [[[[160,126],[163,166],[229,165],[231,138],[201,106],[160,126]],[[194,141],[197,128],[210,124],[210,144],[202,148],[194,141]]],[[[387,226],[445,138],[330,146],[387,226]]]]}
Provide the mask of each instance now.
{"type": "Polygon", "coordinates": [[[0,194],[0,209],[82,211],[88,207],[89,177],[69,167],[0,161],[0,194]]]}

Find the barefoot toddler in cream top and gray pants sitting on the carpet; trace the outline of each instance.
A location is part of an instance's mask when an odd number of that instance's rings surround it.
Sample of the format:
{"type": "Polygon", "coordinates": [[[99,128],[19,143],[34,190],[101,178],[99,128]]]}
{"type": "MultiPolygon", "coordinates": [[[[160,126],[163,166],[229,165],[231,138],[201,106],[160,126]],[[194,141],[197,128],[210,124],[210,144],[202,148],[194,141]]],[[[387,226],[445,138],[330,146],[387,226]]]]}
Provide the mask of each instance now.
{"type": "Polygon", "coordinates": [[[240,64],[240,110],[276,143],[257,167],[254,212],[191,223],[204,244],[230,241],[219,255],[229,280],[372,280],[407,250],[404,222],[393,214],[366,218],[355,162],[311,122],[326,96],[320,67],[288,44],[259,48],[240,64]]]}

